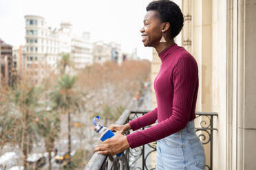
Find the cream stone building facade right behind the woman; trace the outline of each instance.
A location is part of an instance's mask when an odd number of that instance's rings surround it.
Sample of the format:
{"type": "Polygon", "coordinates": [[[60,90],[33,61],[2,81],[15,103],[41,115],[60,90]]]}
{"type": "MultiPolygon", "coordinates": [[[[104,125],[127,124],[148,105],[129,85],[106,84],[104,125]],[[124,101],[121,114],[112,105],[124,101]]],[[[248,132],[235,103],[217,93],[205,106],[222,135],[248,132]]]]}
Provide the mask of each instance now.
{"type": "MultiPolygon", "coordinates": [[[[218,113],[214,120],[213,169],[256,169],[256,3],[175,2],[184,14],[184,27],[176,42],[198,62],[197,110],[218,113]]],[[[159,69],[160,59],[153,51],[152,81],[159,69]]]]}

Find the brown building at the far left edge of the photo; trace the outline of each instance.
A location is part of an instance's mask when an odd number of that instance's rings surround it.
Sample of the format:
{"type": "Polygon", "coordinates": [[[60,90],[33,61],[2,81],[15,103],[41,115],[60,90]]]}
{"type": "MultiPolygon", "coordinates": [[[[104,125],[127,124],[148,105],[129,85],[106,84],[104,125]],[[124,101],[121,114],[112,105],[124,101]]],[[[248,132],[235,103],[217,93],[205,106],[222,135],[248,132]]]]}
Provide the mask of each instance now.
{"type": "Polygon", "coordinates": [[[12,84],[12,46],[7,45],[0,39],[0,82],[2,84],[12,84]]]}

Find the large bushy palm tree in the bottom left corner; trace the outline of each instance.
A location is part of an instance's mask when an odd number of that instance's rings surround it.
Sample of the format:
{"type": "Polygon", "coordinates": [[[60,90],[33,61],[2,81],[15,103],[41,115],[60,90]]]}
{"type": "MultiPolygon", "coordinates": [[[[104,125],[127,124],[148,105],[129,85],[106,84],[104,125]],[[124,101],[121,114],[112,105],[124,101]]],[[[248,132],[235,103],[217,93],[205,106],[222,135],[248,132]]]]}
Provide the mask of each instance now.
{"type": "MultiPolygon", "coordinates": [[[[1,144],[19,145],[23,153],[23,166],[27,167],[27,158],[32,144],[39,139],[39,127],[35,120],[41,121],[40,90],[30,84],[18,84],[8,88],[1,114],[1,144]]],[[[2,109],[2,108],[1,108],[2,109]]]]}

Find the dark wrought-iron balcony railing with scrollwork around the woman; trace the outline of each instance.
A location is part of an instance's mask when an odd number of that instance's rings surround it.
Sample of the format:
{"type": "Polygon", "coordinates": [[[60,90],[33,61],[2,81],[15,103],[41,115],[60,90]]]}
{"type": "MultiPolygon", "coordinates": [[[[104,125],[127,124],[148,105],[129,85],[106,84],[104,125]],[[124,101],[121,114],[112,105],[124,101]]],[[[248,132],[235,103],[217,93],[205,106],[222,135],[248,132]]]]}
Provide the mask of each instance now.
{"type": "MultiPolygon", "coordinates": [[[[146,114],[147,110],[125,110],[119,117],[116,124],[123,125],[137,117],[146,114]]],[[[212,170],[213,167],[213,131],[217,130],[213,127],[213,119],[217,117],[215,112],[196,112],[195,132],[201,139],[203,145],[209,147],[209,165],[206,169],[212,170]]],[[[144,130],[147,127],[142,127],[144,130]]],[[[127,132],[129,134],[129,132],[127,132]]],[[[135,149],[127,149],[120,158],[116,156],[105,156],[94,153],[85,167],[85,170],[153,170],[156,166],[153,164],[152,154],[156,153],[156,142],[142,145],[135,149]]],[[[207,156],[206,156],[207,158],[207,156]]]]}

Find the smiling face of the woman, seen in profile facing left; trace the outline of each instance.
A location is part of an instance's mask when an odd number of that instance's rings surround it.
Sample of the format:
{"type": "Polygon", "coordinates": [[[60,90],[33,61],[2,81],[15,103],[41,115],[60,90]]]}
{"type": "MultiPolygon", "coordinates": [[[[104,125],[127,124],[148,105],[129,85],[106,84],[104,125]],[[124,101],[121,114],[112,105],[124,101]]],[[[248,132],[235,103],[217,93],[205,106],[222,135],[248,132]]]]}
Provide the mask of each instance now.
{"type": "Polygon", "coordinates": [[[156,47],[162,38],[161,21],[158,13],[154,10],[149,10],[144,18],[144,26],[140,29],[142,33],[142,42],[145,47],[156,47]]]}

